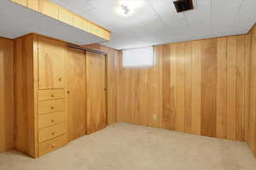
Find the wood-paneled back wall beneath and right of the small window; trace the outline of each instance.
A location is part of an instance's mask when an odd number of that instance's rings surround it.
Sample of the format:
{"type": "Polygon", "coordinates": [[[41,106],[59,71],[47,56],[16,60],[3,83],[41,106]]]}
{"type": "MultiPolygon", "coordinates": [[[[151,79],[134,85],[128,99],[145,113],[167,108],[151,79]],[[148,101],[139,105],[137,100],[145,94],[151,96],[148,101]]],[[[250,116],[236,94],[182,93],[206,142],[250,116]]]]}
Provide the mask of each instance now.
{"type": "Polygon", "coordinates": [[[159,45],[152,68],[119,68],[118,121],[243,141],[249,38],[159,45]]]}

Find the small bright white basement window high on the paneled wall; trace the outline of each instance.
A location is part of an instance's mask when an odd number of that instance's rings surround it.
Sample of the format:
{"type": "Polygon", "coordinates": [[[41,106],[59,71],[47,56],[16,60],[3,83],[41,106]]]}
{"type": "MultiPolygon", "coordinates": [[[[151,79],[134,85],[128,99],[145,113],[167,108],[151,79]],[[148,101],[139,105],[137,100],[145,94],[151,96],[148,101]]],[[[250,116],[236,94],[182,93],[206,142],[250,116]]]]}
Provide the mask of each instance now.
{"type": "Polygon", "coordinates": [[[153,47],[123,50],[123,68],[152,67],[153,65],[153,47]]]}

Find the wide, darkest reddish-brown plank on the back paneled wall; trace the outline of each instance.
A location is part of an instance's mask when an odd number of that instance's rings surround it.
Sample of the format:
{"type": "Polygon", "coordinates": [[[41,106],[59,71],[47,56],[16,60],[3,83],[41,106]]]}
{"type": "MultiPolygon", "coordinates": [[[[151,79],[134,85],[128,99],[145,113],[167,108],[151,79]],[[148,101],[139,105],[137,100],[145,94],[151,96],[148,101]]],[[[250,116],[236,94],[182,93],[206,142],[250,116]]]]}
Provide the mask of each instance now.
{"type": "Polygon", "coordinates": [[[216,136],[217,41],[201,43],[201,134],[216,136]]]}

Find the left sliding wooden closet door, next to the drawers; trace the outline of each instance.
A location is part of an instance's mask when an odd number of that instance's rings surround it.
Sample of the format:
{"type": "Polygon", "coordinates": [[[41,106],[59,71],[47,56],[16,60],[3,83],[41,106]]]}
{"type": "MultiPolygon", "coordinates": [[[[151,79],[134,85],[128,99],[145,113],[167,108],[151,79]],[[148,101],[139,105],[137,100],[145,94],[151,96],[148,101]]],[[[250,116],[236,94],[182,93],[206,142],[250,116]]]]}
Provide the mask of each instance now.
{"type": "Polygon", "coordinates": [[[85,54],[84,51],[67,49],[67,113],[68,139],[85,134],[85,54]]]}

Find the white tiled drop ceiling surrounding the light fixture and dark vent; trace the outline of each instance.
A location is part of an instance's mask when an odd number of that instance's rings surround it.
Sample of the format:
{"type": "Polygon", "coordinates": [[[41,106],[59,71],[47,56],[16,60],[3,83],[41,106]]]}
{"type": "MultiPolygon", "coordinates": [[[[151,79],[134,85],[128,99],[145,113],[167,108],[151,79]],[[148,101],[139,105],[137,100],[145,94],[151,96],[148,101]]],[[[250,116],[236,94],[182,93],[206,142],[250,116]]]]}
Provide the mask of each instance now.
{"type": "Polygon", "coordinates": [[[117,49],[243,34],[256,20],[256,0],[193,0],[194,10],[178,14],[172,0],[51,1],[112,31],[102,45],[117,49]],[[143,5],[118,14],[124,1],[143,5]]]}

